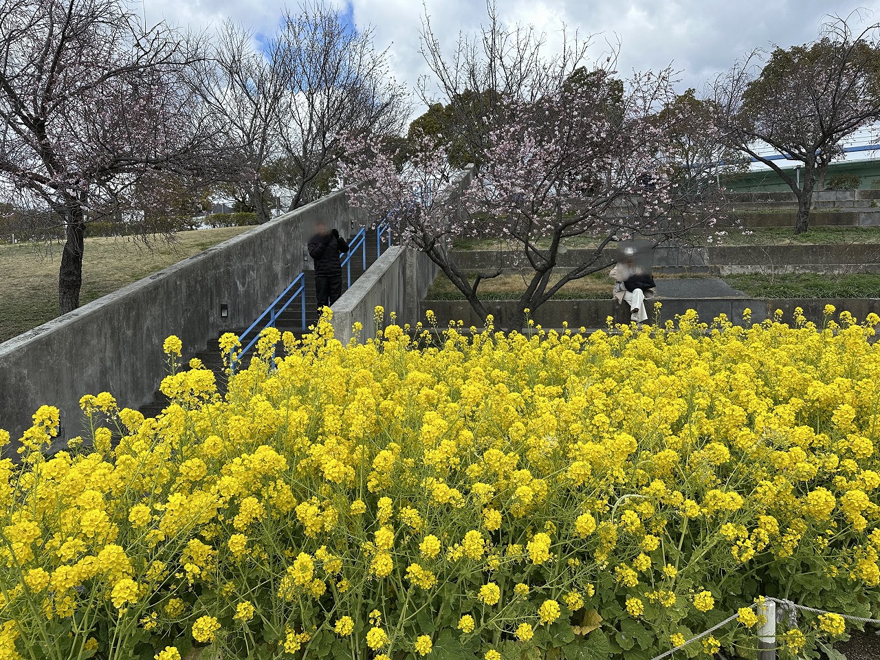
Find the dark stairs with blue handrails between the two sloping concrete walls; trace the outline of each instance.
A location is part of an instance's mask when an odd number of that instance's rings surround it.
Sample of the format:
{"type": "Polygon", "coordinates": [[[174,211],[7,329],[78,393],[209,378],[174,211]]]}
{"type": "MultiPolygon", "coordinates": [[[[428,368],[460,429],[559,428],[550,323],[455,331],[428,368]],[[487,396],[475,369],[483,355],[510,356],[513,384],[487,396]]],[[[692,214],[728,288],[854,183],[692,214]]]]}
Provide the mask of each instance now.
{"type": "MultiPolygon", "coordinates": [[[[385,252],[386,245],[382,246],[382,251],[385,252]]],[[[368,230],[366,232],[366,240],[364,242],[363,247],[358,247],[355,255],[351,258],[351,283],[354,284],[357,279],[363,275],[366,269],[369,269],[370,266],[378,259],[378,246],[376,243],[376,231],[368,230]],[[362,250],[365,250],[367,255],[367,268],[363,268],[363,253],[362,250]]],[[[275,322],[275,327],[278,328],[279,331],[283,333],[291,332],[297,337],[302,337],[304,334],[309,332],[309,326],[314,326],[318,322],[318,298],[315,295],[315,273],[313,270],[304,271],[304,282],[305,282],[305,326],[303,326],[302,319],[302,301],[301,298],[297,296],[297,298],[288,305],[288,308],[282,312],[281,315],[278,316],[275,322]]],[[[348,290],[348,265],[342,267],[342,292],[345,293],[348,290]]],[[[236,334],[240,337],[241,334],[246,330],[246,328],[239,328],[236,331],[236,334]]],[[[253,332],[259,333],[260,328],[256,328],[253,332]]],[[[248,341],[253,338],[253,332],[250,334],[246,341],[242,341],[243,344],[246,345],[248,341]]],[[[208,345],[204,348],[204,350],[199,351],[192,357],[197,357],[202,360],[202,364],[206,369],[209,369],[214,372],[214,378],[216,380],[217,391],[221,394],[226,393],[226,383],[227,376],[226,370],[223,363],[223,358],[220,355],[220,349],[217,347],[217,340],[219,337],[212,339],[208,342],[208,345]]],[[[254,348],[252,348],[248,355],[245,356],[245,363],[250,362],[250,357],[253,356],[254,348]]],[[[281,354],[283,354],[283,348],[281,348],[281,354]]],[[[145,417],[155,417],[157,414],[161,413],[162,410],[168,405],[169,401],[165,394],[159,392],[158,390],[153,395],[153,399],[144,404],[139,408],[141,413],[145,417]]]]}

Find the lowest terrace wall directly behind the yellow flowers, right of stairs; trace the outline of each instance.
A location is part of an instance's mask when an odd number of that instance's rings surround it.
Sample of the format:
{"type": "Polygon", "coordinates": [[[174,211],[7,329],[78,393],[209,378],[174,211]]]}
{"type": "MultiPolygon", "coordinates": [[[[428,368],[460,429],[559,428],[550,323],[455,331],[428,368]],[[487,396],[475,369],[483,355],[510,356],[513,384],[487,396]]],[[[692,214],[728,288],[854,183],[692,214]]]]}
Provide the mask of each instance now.
{"type": "MultiPolygon", "coordinates": [[[[836,313],[847,310],[857,319],[864,319],[870,312],[880,314],[880,299],[877,298],[834,298],[807,300],[792,300],[784,298],[715,298],[715,299],[663,299],[656,298],[663,303],[660,312],[660,322],[675,319],[676,314],[684,314],[689,309],[700,311],[700,319],[711,323],[712,319],[719,314],[727,314],[734,323],[743,318],[746,307],[752,310],[752,321],[759,322],[772,318],[777,309],[784,313],[783,320],[790,323],[796,307],[802,307],[807,319],[821,321],[825,310],[825,304],[833,304],[837,308],[836,313]]],[[[653,303],[648,301],[649,322],[654,322],[655,312],[653,303]]],[[[488,311],[495,316],[495,327],[507,330],[524,327],[524,315],[518,309],[516,301],[492,301],[484,300],[488,311]]],[[[483,326],[476,312],[473,312],[470,304],[458,300],[426,300],[422,302],[422,318],[428,310],[433,311],[437,318],[437,327],[444,328],[450,320],[463,320],[465,326],[483,326]]],[[[530,318],[536,324],[546,328],[561,328],[562,322],[567,321],[568,327],[577,329],[604,328],[606,319],[611,316],[615,323],[629,323],[629,306],[617,304],[615,300],[550,300],[542,304],[530,314],[530,318]]],[[[836,319],[836,314],[835,314],[836,319]]]]}

